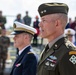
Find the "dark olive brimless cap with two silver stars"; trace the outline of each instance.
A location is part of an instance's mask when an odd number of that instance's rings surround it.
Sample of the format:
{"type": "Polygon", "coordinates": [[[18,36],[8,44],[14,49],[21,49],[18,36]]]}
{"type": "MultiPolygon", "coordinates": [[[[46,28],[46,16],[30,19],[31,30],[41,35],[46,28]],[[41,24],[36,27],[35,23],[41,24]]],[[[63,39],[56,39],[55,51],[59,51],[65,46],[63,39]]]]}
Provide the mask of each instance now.
{"type": "Polygon", "coordinates": [[[38,12],[40,16],[45,16],[48,14],[54,14],[54,13],[64,13],[68,14],[68,6],[65,3],[43,3],[38,7],[38,12]]]}

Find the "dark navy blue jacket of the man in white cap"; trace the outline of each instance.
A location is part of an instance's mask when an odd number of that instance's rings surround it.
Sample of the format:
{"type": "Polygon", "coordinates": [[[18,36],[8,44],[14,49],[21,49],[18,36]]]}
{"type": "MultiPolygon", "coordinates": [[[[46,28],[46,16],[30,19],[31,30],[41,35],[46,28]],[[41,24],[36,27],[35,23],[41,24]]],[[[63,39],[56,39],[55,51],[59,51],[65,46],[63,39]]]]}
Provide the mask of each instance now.
{"type": "Polygon", "coordinates": [[[37,59],[28,46],[16,59],[10,75],[36,75],[37,59]]]}

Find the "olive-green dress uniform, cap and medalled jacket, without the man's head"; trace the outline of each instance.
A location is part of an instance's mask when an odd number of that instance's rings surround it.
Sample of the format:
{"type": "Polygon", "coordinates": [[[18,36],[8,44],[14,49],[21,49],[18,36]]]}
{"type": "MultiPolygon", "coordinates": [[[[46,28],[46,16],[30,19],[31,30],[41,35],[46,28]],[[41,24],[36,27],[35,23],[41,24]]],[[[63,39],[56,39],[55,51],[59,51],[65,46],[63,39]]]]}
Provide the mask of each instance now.
{"type": "MultiPolygon", "coordinates": [[[[38,8],[41,17],[68,13],[64,3],[44,3],[38,8]]],[[[42,51],[37,75],[76,75],[76,47],[63,35],[50,42],[42,51]]]]}

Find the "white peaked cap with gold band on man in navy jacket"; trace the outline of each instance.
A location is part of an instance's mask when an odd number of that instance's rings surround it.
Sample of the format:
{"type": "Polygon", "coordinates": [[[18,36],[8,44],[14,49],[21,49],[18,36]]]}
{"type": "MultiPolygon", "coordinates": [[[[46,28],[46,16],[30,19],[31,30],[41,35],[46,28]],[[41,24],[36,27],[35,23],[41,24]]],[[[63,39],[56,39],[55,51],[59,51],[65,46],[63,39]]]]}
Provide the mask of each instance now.
{"type": "Polygon", "coordinates": [[[17,22],[17,21],[14,22],[13,27],[14,27],[14,31],[11,33],[12,35],[16,35],[16,34],[20,34],[24,32],[32,34],[32,35],[37,33],[35,28],[25,25],[23,23],[17,22]]]}

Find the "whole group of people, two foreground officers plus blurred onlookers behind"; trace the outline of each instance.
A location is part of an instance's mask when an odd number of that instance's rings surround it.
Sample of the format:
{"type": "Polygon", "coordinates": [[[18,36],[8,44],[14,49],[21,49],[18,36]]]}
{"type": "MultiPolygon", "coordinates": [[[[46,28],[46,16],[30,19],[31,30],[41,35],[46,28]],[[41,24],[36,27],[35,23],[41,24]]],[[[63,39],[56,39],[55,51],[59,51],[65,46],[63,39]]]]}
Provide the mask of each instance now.
{"type": "MultiPolygon", "coordinates": [[[[36,16],[32,26],[28,11],[23,19],[17,14],[11,35],[14,35],[18,56],[10,75],[76,75],[76,17],[74,22],[71,18],[68,22],[68,11],[65,3],[43,3],[38,7],[41,21],[36,16]],[[48,40],[39,60],[31,45],[33,41],[37,47],[38,36],[42,41],[48,40]]],[[[6,17],[0,11],[0,75],[3,75],[10,46],[5,24],[6,17]]]]}

